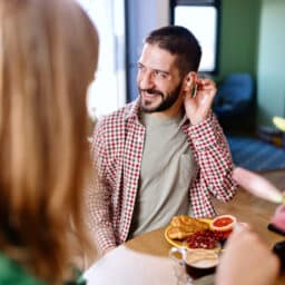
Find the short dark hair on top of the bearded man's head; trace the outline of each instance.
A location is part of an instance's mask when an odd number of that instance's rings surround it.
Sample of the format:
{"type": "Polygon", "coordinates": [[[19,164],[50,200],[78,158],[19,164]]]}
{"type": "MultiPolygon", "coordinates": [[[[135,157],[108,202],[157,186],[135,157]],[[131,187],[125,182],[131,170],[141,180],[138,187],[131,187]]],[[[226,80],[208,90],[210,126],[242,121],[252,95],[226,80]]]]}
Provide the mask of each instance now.
{"type": "Polygon", "coordinates": [[[202,48],[188,29],[180,26],[163,27],[151,31],[146,37],[145,43],[158,45],[171,55],[177,55],[177,67],[181,76],[198,70],[202,48]]]}

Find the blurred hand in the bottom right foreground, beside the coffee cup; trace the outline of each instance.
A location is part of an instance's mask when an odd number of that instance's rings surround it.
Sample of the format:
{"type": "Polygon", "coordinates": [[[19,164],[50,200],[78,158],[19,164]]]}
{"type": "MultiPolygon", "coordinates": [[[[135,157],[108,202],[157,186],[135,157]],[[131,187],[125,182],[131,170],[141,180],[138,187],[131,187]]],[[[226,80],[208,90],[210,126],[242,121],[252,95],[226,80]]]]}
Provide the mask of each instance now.
{"type": "Polygon", "coordinates": [[[257,234],[238,227],[229,237],[216,274],[216,285],[271,285],[279,269],[278,258],[257,234]]]}

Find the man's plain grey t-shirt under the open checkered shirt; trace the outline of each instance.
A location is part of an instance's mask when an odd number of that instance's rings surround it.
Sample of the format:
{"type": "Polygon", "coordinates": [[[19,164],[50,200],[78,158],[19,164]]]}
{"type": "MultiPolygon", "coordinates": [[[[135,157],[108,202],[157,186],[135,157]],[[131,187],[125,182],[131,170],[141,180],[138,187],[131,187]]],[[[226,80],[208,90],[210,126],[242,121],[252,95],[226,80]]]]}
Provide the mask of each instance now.
{"type": "Polygon", "coordinates": [[[188,189],[196,164],[181,119],[141,116],[146,136],[129,237],[166,226],[175,215],[190,215],[188,189]]]}

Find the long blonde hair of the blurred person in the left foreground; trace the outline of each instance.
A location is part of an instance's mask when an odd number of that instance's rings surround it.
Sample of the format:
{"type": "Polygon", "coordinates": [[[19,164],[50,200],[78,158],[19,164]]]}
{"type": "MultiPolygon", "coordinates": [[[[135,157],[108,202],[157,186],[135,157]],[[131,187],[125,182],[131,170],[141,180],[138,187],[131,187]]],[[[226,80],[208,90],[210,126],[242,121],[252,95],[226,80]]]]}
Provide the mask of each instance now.
{"type": "Polygon", "coordinates": [[[85,239],[95,27],[72,0],[0,0],[0,250],[56,284],[85,239]]]}

